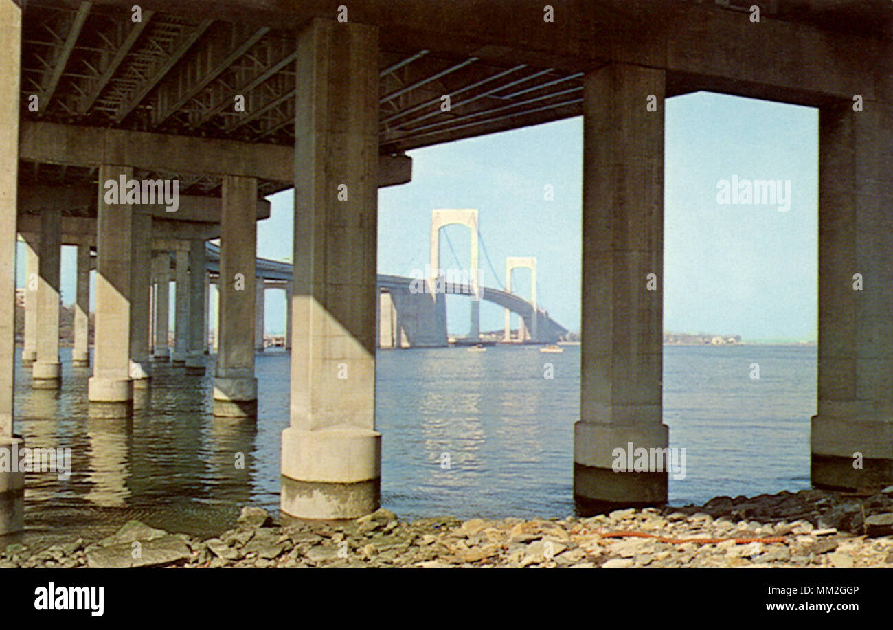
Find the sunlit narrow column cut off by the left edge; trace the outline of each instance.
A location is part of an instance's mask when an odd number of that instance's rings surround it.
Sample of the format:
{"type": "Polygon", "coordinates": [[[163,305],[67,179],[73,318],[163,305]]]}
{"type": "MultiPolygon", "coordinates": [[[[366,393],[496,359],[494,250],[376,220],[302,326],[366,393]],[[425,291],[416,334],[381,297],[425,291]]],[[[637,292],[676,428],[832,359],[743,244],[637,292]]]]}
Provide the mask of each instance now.
{"type": "MultiPolygon", "coordinates": [[[[21,9],[0,0],[0,458],[24,446],[13,435],[15,228],[19,169],[21,9]]],[[[25,474],[0,472],[0,534],[24,529],[25,474]]]]}

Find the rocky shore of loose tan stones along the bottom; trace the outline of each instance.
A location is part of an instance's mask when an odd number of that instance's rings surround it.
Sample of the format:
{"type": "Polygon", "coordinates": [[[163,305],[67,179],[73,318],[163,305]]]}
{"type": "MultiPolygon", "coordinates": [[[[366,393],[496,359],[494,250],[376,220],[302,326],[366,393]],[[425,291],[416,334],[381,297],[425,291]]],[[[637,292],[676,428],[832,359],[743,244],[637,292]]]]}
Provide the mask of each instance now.
{"type": "Polygon", "coordinates": [[[893,486],[874,494],[779,492],[704,506],[559,519],[275,524],[242,509],[208,540],[129,521],[101,541],[12,544],[4,567],[893,567],[893,486]]]}

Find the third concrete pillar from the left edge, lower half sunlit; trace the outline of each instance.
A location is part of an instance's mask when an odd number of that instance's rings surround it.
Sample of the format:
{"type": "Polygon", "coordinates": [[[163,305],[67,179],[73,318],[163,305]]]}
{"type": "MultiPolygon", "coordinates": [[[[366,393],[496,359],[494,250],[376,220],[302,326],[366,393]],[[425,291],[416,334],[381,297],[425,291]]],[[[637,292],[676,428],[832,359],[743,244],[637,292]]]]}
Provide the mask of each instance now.
{"type": "Polygon", "coordinates": [[[38,272],[38,360],[31,367],[36,390],[56,390],[62,385],[59,362],[59,267],[62,263],[62,212],[40,213],[40,266],[38,272]]]}

